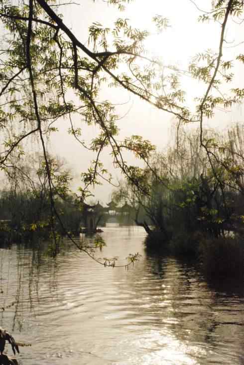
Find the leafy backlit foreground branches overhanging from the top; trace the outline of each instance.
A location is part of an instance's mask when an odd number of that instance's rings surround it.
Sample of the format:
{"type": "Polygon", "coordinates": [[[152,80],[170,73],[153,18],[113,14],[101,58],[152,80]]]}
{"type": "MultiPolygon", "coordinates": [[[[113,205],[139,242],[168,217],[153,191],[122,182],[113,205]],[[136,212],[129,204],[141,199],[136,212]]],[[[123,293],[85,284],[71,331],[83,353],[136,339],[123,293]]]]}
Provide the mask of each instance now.
{"type": "MultiPolygon", "coordinates": [[[[104,6],[122,10],[130,1],[108,0],[104,6]]],[[[74,138],[96,154],[89,170],[82,173],[82,200],[89,187],[99,183],[99,178],[111,181],[101,159],[106,147],[111,150],[113,164],[133,184],[139,186],[141,170],[126,163],[124,150],[132,151],[150,168],[149,156],[154,146],[140,136],[119,139],[118,111],[110,100],[102,99],[104,86],[122,88],[169,113],[179,123],[197,122],[201,130],[204,120],[212,117],[217,107],[231,107],[244,97],[241,87],[231,90],[228,87],[228,92],[225,88],[234,77],[235,63],[243,63],[244,55],[239,54],[234,60],[223,55],[227,24],[239,21],[243,13],[241,0],[208,1],[207,12],[199,9],[200,21],[220,23],[219,47],[217,52],[203,50],[197,54],[187,70],[148,58],[144,41],[149,32],[133,28],[122,17],[115,19],[113,28],[93,23],[88,29],[87,46],[63,21],[61,7],[55,0],[16,3],[1,0],[0,3],[0,166],[2,170],[9,169],[11,155],[23,158],[24,141],[36,138],[45,160],[52,217],[57,212],[45,140],[56,131],[53,123],[57,120],[67,119],[74,138]],[[203,84],[203,93],[194,101],[193,110],[186,106],[188,90],[183,90],[180,82],[186,74],[203,84]],[[81,120],[78,128],[73,123],[76,115],[81,120]],[[82,140],[83,123],[99,128],[90,145],[82,140]]],[[[161,15],[155,15],[152,21],[158,31],[168,26],[168,19],[161,15]]],[[[211,141],[206,141],[203,135],[200,144],[212,161],[215,156],[211,141]]]]}

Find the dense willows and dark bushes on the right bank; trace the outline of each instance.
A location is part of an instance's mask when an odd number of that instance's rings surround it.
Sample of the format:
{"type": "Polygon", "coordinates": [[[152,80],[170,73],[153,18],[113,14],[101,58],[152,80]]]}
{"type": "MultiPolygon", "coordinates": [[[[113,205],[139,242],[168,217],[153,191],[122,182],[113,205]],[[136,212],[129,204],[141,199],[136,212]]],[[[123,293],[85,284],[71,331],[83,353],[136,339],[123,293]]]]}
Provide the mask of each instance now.
{"type": "Polygon", "coordinates": [[[208,275],[244,275],[244,126],[205,132],[214,165],[200,146],[201,130],[175,134],[138,183],[124,181],[114,199],[134,204],[147,247],[194,258],[208,275]]]}

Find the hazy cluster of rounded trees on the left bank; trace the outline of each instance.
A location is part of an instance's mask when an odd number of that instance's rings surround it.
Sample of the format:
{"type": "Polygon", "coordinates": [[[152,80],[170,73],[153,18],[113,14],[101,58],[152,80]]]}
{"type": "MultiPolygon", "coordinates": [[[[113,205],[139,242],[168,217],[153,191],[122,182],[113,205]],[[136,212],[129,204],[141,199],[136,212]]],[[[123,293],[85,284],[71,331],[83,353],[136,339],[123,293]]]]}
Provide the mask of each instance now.
{"type": "Polygon", "coordinates": [[[82,217],[81,206],[70,190],[71,172],[65,161],[59,157],[48,156],[52,174],[53,199],[55,209],[62,224],[51,215],[50,191],[45,162],[40,154],[29,154],[25,163],[15,161],[3,179],[0,190],[0,219],[9,220],[8,227],[17,238],[31,237],[34,233],[48,237],[50,226],[54,225],[57,234],[78,234],[82,217]],[[65,228],[64,228],[65,227],[65,228]]]}

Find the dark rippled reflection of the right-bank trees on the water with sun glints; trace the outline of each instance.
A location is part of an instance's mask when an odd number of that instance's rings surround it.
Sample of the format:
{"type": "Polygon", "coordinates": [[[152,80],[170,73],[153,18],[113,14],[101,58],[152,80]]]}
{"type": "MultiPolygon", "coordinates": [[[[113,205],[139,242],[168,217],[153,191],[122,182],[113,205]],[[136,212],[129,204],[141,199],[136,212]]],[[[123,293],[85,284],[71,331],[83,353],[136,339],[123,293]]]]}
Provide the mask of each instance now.
{"type": "Polygon", "coordinates": [[[145,249],[145,257],[126,277],[128,303],[135,318],[141,318],[138,325],[156,327],[180,343],[219,348],[221,341],[231,342],[240,344],[241,351],[244,293],[237,296],[235,291],[233,296],[227,292],[228,285],[225,290],[222,284],[218,288],[221,292],[216,292],[193,262],[167,257],[152,249],[145,249]],[[230,331],[234,334],[231,340],[230,331]]]}

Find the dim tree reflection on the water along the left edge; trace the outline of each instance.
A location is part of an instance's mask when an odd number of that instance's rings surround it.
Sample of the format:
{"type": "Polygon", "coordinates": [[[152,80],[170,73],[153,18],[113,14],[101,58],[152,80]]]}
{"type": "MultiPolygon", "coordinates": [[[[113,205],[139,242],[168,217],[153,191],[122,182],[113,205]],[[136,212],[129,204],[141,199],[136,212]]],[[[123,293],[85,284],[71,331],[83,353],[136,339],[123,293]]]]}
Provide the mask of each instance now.
{"type": "Polygon", "coordinates": [[[35,309],[40,304],[42,275],[48,273],[48,287],[53,297],[57,290],[57,271],[56,261],[45,256],[43,242],[31,247],[13,245],[11,250],[0,250],[0,291],[3,291],[0,307],[4,309],[1,311],[1,326],[11,326],[12,332],[16,328],[21,332],[26,315],[35,316],[35,309]],[[45,270],[41,270],[42,266],[45,270]]]}

